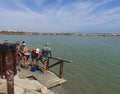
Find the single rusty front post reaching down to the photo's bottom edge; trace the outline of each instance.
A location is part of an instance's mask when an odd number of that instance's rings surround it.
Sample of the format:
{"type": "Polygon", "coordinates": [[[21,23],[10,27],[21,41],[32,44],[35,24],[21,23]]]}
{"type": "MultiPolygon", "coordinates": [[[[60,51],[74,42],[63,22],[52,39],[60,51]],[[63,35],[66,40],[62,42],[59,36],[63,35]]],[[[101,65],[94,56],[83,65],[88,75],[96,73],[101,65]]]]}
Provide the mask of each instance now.
{"type": "Polygon", "coordinates": [[[13,72],[13,51],[9,46],[5,46],[4,52],[4,68],[7,79],[7,92],[14,94],[14,72],[13,72]]]}

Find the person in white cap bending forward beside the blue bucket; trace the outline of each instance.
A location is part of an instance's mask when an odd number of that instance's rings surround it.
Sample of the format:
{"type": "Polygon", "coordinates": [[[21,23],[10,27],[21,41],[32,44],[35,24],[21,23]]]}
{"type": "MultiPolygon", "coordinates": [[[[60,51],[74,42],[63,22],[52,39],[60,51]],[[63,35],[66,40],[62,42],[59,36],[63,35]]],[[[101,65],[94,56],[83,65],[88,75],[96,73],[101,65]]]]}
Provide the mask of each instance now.
{"type": "Polygon", "coordinates": [[[36,60],[37,69],[39,67],[38,60],[39,60],[40,56],[41,56],[40,49],[39,48],[34,48],[31,52],[31,59],[32,59],[32,66],[34,66],[34,60],[36,60]]]}

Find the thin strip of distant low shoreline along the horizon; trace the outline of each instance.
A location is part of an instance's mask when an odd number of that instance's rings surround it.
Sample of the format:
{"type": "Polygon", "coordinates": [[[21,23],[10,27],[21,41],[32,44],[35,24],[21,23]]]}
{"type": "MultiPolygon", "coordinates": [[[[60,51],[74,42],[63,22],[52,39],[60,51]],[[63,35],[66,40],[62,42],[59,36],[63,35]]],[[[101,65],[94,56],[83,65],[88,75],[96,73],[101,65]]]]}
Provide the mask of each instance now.
{"type": "Polygon", "coordinates": [[[43,33],[22,31],[0,31],[0,35],[120,36],[120,33],[43,33]]]}

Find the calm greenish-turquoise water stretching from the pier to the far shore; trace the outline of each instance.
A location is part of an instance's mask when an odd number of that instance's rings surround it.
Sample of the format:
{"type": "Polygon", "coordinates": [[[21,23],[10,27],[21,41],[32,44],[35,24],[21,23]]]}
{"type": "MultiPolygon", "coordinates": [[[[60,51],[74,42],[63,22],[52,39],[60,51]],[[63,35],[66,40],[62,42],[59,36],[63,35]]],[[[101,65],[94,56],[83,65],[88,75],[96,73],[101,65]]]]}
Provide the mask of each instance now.
{"type": "Polygon", "coordinates": [[[50,42],[53,57],[72,60],[64,64],[67,82],[55,89],[59,94],[120,94],[120,37],[0,35],[4,39],[24,40],[30,50],[50,42]]]}

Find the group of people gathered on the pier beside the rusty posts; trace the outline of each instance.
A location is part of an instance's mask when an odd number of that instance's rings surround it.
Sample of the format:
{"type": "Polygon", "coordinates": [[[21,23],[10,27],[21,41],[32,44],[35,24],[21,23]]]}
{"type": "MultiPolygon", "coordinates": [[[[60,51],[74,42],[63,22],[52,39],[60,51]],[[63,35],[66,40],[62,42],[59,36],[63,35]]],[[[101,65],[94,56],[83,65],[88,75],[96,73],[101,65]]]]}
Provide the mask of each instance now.
{"type": "MultiPolygon", "coordinates": [[[[38,61],[41,60],[43,62],[44,72],[46,71],[48,57],[52,57],[51,48],[49,47],[49,43],[46,43],[45,46],[40,50],[39,48],[33,48],[32,51],[29,50],[25,41],[23,41],[20,45],[20,42],[16,42],[16,53],[17,53],[17,61],[24,60],[25,68],[29,68],[29,58],[31,56],[31,65],[39,67],[38,61]],[[36,62],[36,64],[35,64],[36,62]]],[[[18,63],[20,66],[20,63],[18,63]]]]}

